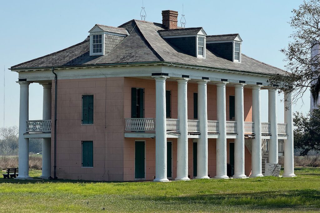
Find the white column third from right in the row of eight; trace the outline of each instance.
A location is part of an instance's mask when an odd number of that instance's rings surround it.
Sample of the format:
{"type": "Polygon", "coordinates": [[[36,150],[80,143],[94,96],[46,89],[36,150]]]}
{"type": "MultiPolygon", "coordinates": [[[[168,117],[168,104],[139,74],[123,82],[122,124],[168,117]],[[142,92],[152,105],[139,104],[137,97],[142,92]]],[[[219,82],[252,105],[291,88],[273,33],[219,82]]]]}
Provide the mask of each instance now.
{"type": "Polygon", "coordinates": [[[254,139],[252,139],[250,177],[263,177],[262,175],[262,154],[261,154],[261,101],[260,85],[252,86],[252,121],[254,122],[254,139]]]}

